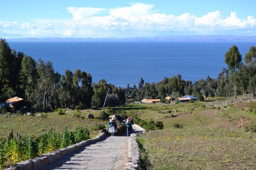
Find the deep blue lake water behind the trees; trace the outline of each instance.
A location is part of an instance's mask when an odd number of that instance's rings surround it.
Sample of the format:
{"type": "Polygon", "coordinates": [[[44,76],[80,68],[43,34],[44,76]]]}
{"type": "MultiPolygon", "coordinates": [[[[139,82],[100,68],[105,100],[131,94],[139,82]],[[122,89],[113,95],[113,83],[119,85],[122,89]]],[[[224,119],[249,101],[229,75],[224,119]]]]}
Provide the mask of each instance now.
{"type": "MultiPolygon", "coordinates": [[[[8,41],[7,41],[8,42],[8,41]]],[[[234,44],[242,57],[256,42],[8,42],[36,61],[53,63],[60,74],[80,69],[98,83],[105,79],[117,87],[138,87],[144,82],[158,83],[178,73],[193,83],[209,75],[217,78],[227,68],[224,55],[234,44]]]]}

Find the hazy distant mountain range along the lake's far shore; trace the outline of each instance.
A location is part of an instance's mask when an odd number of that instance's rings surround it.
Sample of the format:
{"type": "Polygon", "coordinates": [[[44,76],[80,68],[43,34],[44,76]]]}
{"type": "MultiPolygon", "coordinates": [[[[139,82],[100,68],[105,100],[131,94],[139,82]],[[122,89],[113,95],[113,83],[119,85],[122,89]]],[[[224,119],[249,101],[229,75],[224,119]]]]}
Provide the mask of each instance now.
{"type": "Polygon", "coordinates": [[[256,36],[235,35],[191,35],[165,37],[107,37],[107,38],[8,38],[7,41],[34,41],[34,42],[256,42],[256,36]]]}

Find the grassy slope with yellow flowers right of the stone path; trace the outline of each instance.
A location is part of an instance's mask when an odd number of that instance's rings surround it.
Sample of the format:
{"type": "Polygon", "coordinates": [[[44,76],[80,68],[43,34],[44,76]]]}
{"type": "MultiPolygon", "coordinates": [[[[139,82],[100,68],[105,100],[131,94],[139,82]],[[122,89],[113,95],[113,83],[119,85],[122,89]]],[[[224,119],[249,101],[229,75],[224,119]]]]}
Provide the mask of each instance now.
{"type": "Polygon", "coordinates": [[[142,119],[164,124],[162,130],[138,136],[147,168],[256,169],[256,101],[210,108],[201,104],[142,111],[142,119]]]}

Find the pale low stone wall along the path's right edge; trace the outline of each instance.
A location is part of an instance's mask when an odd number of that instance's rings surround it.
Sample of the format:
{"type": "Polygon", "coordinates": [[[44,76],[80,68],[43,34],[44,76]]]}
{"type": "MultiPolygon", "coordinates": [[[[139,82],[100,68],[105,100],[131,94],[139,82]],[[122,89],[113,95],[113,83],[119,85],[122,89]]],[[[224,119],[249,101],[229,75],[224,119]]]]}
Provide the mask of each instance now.
{"type": "MultiPolygon", "coordinates": [[[[140,129],[145,132],[145,129],[140,127],[137,124],[132,125],[135,126],[137,129],[140,129]]],[[[140,169],[140,148],[139,144],[136,141],[137,134],[132,133],[131,137],[129,137],[129,149],[128,149],[128,158],[126,162],[126,170],[134,170],[134,169],[140,169]]]]}

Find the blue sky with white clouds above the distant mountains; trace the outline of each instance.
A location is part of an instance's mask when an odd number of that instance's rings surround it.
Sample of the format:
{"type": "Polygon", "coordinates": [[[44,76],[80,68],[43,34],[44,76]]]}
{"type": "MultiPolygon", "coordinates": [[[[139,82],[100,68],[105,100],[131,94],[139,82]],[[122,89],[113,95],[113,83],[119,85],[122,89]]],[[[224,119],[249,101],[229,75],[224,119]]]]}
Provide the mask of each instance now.
{"type": "Polygon", "coordinates": [[[8,0],[0,37],[256,35],[255,0],[8,0]]]}

